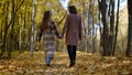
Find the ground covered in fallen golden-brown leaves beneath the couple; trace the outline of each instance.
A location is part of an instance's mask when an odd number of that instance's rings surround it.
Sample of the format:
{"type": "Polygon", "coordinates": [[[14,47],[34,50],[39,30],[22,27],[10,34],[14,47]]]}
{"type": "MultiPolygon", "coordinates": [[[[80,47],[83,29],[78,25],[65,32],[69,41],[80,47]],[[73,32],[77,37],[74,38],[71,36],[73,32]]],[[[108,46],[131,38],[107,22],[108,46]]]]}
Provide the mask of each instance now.
{"type": "Polygon", "coordinates": [[[0,61],[0,75],[132,75],[132,57],[102,57],[98,53],[77,52],[75,67],[68,67],[67,53],[56,52],[52,66],[45,66],[44,52],[13,53],[12,60],[0,61]]]}

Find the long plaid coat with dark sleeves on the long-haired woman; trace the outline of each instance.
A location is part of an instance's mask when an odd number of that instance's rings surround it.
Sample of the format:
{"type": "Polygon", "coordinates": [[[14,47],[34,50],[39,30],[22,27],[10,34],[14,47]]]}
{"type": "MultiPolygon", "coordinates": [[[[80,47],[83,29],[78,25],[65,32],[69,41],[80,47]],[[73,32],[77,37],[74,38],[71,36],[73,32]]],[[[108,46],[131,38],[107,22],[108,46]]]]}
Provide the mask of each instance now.
{"type": "Polygon", "coordinates": [[[57,28],[53,21],[48,23],[51,29],[44,30],[40,33],[40,39],[43,35],[44,50],[46,57],[54,57],[55,54],[55,35],[59,36],[57,28]]]}

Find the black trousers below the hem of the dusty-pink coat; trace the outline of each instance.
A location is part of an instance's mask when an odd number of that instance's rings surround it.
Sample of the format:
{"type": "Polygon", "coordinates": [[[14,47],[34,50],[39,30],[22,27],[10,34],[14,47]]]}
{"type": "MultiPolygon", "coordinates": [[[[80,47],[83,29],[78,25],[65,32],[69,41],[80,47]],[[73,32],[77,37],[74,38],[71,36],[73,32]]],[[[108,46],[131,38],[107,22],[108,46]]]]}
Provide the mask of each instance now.
{"type": "Polygon", "coordinates": [[[67,51],[68,51],[70,64],[76,63],[76,50],[77,50],[77,45],[67,45],[67,51]]]}

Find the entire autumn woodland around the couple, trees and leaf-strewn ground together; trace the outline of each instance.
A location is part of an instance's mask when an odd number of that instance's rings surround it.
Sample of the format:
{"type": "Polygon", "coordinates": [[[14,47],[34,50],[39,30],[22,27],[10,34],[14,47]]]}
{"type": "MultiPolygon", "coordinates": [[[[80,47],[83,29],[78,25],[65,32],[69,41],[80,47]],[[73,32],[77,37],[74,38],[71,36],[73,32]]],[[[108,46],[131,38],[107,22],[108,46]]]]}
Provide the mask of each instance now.
{"type": "MultiPolygon", "coordinates": [[[[63,65],[54,65],[55,67],[52,74],[57,74],[57,72],[58,74],[76,74],[76,71],[80,68],[80,72],[77,73],[80,75],[98,75],[99,72],[100,75],[106,75],[106,71],[108,74],[131,75],[132,1],[128,0],[128,3],[122,7],[121,3],[124,1],[125,0],[70,0],[68,4],[76,6],[78,14],[82,18],[82,41],[78,46],[78,58],[80,62],[78,61],[79,64],[77,64],[75,68],[63,66],[68,63],[65,40],[56,38],[56,58],[58,60],[55,60],[53,64],[57,63],[59,58],[64,63],[63,65]],[[64,57],[64,60],[62,57],[64,57]],[[118,63],[121,62],[123,64],[118,65],[118,63]],[[87,66],[82,65],[84,63],[87,66]],[[107,65],[105,63],[107,63],[107,65]],[[99,66],[99,64],[102,64],[102,66],[99,66]],[[57,67],[64,67],[64,71],[57,71],[57,67]],[[110,71],[112,68],[117,69],[112,72],[110,71]],[[67,72],[65,72],[65,69],[67,72]],[[91,72],[87,73],[89,69],[91,72]]],[[[36,65],[35,63],[38,62],[41,63],[40,66],[44,66],[43,40],[38,42],[36,38],[45,10],[52,11],[53,20],[56,22],[57,29],[61,32],[67,10],[63,8],[59,0],[0,1],[1,74],[10,74],[11,72],[14,72],[14,74],[28,73],[28,71],[34,73],[36,71],[34,66],[38,66],[38,64],[36,65]],[[20,65],[16,65],[18,63],[20,65]],[[28,66],[29,64],[30,66],[28,66]],[[12,68],[14,68],[14,71],[10,71],[12,68]],[[15,72],[18,68],[20,68],[21,72],[15,72]]],[[[40,66],[40,73],[42,74],[45,73],[45,71],[47,71],[48,74],[52,69],[40,66]]]]}

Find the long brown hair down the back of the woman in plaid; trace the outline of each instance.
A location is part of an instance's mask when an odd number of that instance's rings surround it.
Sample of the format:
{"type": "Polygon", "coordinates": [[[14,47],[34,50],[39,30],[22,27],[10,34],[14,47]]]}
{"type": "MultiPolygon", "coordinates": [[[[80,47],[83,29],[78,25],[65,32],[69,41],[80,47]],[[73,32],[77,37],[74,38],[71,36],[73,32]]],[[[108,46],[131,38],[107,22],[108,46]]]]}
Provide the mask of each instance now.
{"type": "Polygon", "coordinates": [[[48,25],[50,18],[51,18],[51,11],[45,11],[42,20],[42,24],[41,24],[42,30],[50,29],[50,25],[48,25]]]}

